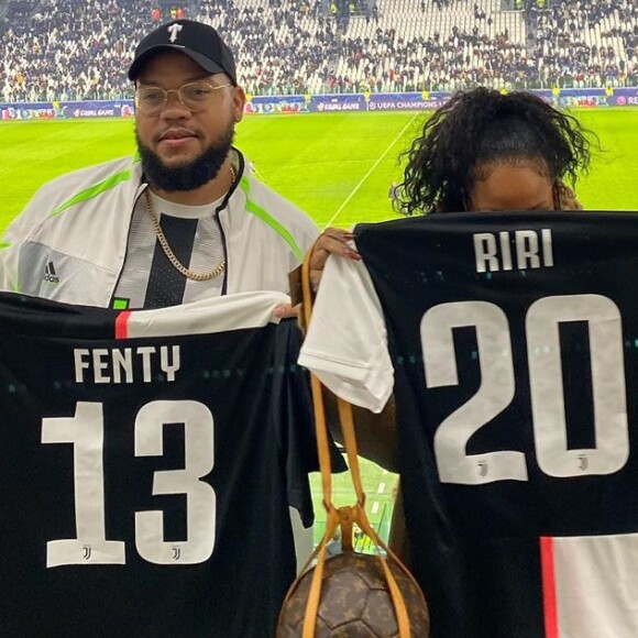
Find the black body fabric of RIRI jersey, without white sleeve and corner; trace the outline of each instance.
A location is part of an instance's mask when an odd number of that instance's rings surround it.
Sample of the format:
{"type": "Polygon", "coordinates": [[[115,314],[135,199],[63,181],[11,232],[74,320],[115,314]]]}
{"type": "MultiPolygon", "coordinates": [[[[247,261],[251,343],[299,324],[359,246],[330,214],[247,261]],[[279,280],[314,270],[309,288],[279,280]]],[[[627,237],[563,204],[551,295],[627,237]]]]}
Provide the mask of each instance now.
{"type": "MultiPolygon", "coordinates": [[[[638,298],[634,285],[638,218],[603,212],[432,215],[360,224],[355,241],[388,329],[410,553],[430,605],[431,636],[544,636],[539,538],[638,531],[638,298]],[[475,241],[487,235],[497,246],[494,268],[483,268],[485,260],[475,256],[475,241]],[[539,241],[538,267],[531,267],[529,260],[519,267],[518,253],[530,238],[539,241]],[[561,318],[560,310],[558,319],[549,319],[546,308],[554,301],[570,310],[585,308],[585,316],[561,318]],[[602,318],[597,311],[587,317],[586,308],[597,301],[617,308],[620,321],[602,318]],[[439,312],[458,302],[463,306],[457,312],[459,327],[451,328],[450,361],[436,364],[439,372],[443,365],[451,366],[458,380],[428,386],[424,361],[442,356],[441,341],[424,348],[424,331],[441,321],[432,319],[437,316],[432,309],[439,312]],[[476,310],[479,304],[486,306],[476,310]],[[541,309],[536,318],[532,306],[541,309]],[[512,358],[502,349],[490,361],[485,353],[492,338],[479,342],[472,317],[476,312],[480,321],[494,326],[487,310],[495,309],[503,314],[499,334],[510,343],[512,358]],[[539,324],[547,330],[532,339],[530,331],[539,324]],[[617,329],[610,332],[616,337],[598,343],[593,352],[591,330],[609,326],[617,329]],[[559,334],[558,348],[553,330],[559,334]],[[610,362],[613,348],[623,353],[620,364],[610,362]],[[534,376],[529,365],[542,358],[559,362],[562,387],[559,382],[535,399],[531,386],[540,387],[543,375],[534,376]],[[624,383],[629,424],[627,458],[616,465],[609,461],[614,468],[598,473],[588,469],[594,457],[607,459],[597,452],[602,443],[594,430],[594,363],[601,387],[610,373],[624,380],[619,385],[624,383]],[[485,397],[488,366],[496,364],[502,371],[512,367],[512,398],[499,396],[499,388],[507,385],[505,376],[492,383],[491,396],[485,397]],[[469,403],[479,396],[484,400],[469,403]],[[539,460],[541,419],[535,416],[535,410],[538,414],[561,396],[566,426],[547,420],[542,425],[552,432],[566,429],[568,451],[582,450],[578,460],[565,464],[562,476],[543,469],[539,460]],[[496,406],[494,414],[481,416],[479,409],[490,404],[496,406]],[[466,409],[461,414],[463,406],[466,409]],[[443,482],[436,448],[443,425],[452,435],[450,444],[461,447],[465,459],[475,464],[476,476],[490,477],[495,471],[493,460],[485,461],[483,455],[514,451],[524,454],[527,480],[443,482]],[[470,433],[463,427],[471,427],[470,433]]],[[[606,394],[602,392],[598,408],[606,394]]],[[[623,409],[617,407],[614,425],[601,421],[596,428],[609,427],[622,435],[616,419],[623,409]]],[[[568,457],[564,451],[557,453],[559,459],[568,457]]]]}

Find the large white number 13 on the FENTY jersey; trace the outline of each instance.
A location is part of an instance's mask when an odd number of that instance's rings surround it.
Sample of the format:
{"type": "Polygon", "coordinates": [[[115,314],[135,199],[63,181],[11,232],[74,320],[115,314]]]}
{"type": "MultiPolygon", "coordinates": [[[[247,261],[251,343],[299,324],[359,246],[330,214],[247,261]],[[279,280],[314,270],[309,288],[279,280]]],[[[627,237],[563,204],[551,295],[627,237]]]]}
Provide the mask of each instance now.
{"type": "MultiPolygon", "coordinates": [[[[135,547],[140,556],[158,564],[205,562],[215,547],[216,494],[201,481],[213,465],[213,419],[198,402],[151,402],[135,418],[135,455],[163,454],[163,427],[184,425],[185,468],[155,472],[153,495],[186,494],[185,541],[164,541],[164,513],[135,513],[135,547]]],[[[102,405],[80,402],[70,418],[42,420],[43,443],[74,444],[74,484],[77,538],[46,543],[46,566],[68,564],[124,564],[124,543],[106,538],[105,418],[102,405]]]]}

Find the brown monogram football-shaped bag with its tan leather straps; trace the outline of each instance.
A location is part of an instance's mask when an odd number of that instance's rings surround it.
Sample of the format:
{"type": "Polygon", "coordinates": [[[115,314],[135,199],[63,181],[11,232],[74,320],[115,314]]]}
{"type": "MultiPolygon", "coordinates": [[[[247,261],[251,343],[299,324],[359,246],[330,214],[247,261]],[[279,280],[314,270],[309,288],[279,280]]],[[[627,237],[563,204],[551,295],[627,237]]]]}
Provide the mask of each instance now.
{"type": "MultiPolygon", "coordinates": [[[[301,322],[311,318],[308,257],[302,268],[301,322]]],[[[352,407],[339,399],[339,418],[356,494],[352,506],[332,503],[332,474],[321,383],[311,375],[319,466],[327,522],[323,536],[282,606],[277,638],[428,638],[429,614],[414,576],[378,537],[365,514],[352,407]],[[376,549],[363,554],[352,546],[354,526],[376,549]],[[342,551],[328,556],[341,532],[342,551]]]]}

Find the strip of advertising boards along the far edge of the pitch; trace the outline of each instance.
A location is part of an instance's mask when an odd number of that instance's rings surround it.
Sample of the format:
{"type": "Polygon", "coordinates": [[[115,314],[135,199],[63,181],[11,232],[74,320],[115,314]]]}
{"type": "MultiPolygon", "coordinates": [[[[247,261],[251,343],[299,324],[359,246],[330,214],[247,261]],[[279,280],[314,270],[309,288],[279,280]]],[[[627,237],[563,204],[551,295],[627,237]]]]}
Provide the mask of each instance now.
{"type": "MultiPolygon", "coordinates": [[[[638,107],[638,87],[542,89],[532,91],[561,108],[638,107]]],[[[348,111],[421,111],[441,107],[449,92],[348,94],[320,96],[249,96],[245,112],[310,113],[348,111]]],[[[0,102],[0,120],[68,120],[76,118],[131,118],[132,100],[74,102],[0,102]]]]}

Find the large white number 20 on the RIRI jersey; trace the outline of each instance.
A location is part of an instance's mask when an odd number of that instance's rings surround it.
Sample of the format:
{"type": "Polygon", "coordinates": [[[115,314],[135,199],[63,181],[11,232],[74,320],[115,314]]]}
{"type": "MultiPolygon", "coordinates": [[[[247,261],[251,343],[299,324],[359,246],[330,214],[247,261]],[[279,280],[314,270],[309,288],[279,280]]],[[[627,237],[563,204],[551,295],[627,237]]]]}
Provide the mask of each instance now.
{"type": "MultiPolygon", "coordinates": [[[[421,319],[426,385],[459,384],[452,330],[475,327],[481,386],[435,433],[442,483],[479,485],[527,481],[522,452],[468,454],[470,438],[514,399],[515,377],[509,324],[503,310],[486,301],[458,301],[430,308],[421,319]]],[[[544,297],[526,316],[534,438],[540,469],[550,476],[612,474],[629,458],[629,430],[618,307],[600,295],[544,297]],[[586,321],[591,346],[595,448],[570,450],[565,424],[559,324],[586,321]]],[[[512,427],[520,427],[513,424],[512,427]]]]}

